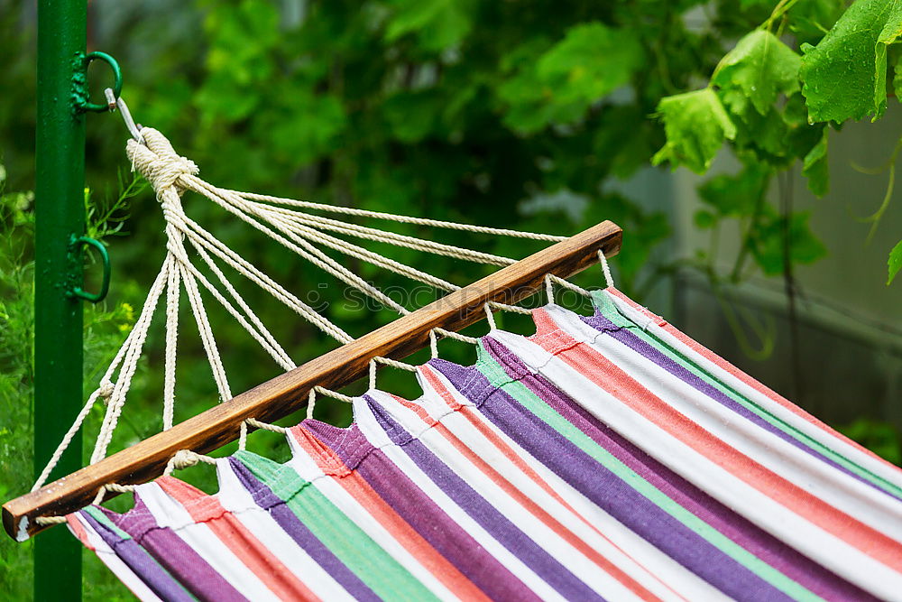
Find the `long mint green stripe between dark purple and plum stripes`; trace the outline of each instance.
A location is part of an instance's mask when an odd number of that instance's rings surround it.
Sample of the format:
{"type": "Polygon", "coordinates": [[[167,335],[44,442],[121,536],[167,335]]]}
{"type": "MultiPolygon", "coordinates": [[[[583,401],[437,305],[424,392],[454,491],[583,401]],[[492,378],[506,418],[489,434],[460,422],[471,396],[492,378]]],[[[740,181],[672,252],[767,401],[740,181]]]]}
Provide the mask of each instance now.
{"type": "Polygon", "coordinates": [[[682,505],[677,504],[673,499],[663,493],[658,487],[653,486],[645,478],[626,466],[615,458],[611,452],[604,449],[601,445],[592,440],[583,431],[580,431],[575,425],[567,421],[566,418],[557,413],[548,403],[543,402],[538,395],[534,394],[529,387],[522,384],[519,380],[511,380],[511,377],[504,372],[503,367],[498,364],[491,355],[480,345],[479,358],[475,365],[485,375],[489,382],[505,393],[510,394],[517,402],[521,403],[525,408],[535,414],[540,420],[546,422],[548,426],[560,433],[577,448],[584,451],[591,458],[594,458],[604,468],[610,470],[614,475],[621,478],[627,485],[631,486],[641,495],[644,495],[658,508],[673,516],[677,521],[686,525],[687,528],[697,533],[705,541],[711,543],[718,550],[730,556],[733,560],[739,562],[742,566],[753,572],[760,579],[763,579],[783,591],[788,596],[799,600],[820,600],[813,592],[797,583],[793,579],[789,579],[779,570],[770,566],[764,560],[760,560],[750,551],[745,550],[741,545],[733,542],[731,539],[720,533],[708,523],[705,523],[695,514],[686,510],[682,505]]]}

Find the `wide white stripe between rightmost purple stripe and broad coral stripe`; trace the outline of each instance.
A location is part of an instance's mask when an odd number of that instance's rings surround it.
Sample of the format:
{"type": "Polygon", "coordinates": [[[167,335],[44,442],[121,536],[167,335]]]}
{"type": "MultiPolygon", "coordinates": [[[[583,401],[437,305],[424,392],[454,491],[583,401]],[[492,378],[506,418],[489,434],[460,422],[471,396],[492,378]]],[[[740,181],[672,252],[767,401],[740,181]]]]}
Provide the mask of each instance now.
{"type": "Polygon", "coordinates": [[[897,541],[902,538],[902,502],[762,429],[621,341],[593,329],[572,311],[555,306],[546,310],[567,334],[592,347],[733,449],[861,523],[897,541]]]}

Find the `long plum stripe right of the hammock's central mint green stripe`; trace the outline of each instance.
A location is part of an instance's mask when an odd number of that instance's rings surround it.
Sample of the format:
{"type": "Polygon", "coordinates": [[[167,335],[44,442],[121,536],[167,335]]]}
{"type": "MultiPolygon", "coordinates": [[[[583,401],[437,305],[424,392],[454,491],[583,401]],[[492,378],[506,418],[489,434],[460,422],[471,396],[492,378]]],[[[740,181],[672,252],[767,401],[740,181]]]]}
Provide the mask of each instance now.
{"type": "Polygon", "coordinates": [[[651,458],[619,433],[587,412],[570,396],[551,384],[543,375],[529,370],[510,349],[495,340],[486,340],[486,348],[513,380],[529,387],[539,399],[573,424],[598,445],[631,468],[677,504],[740,544],[759,559],[783,572],[790,579],[827,599],[876,599],[830,570],[789,547],[748,519],[736,514],[685,478],[651,458]]]}

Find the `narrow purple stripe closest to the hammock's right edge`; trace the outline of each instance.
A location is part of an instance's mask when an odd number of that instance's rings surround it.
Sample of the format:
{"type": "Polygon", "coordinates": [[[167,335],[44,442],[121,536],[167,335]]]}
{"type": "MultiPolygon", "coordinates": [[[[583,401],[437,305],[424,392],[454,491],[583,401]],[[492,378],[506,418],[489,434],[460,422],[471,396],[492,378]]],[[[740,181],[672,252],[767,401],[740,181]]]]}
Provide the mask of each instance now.
{"type": "Polygon", "coordinates": [[[623,345],[630,347],[630,349],[636,351],[641,356],[648,358],[650,361],[667,370],[667,372],[669,372],[671,375],[674,375],[684,383],[691,385],[698,392],[707,395],[717,403],[721,403],[724,407],[727,407],[733,412],[738,413],[743,418],[753,422],[765,431],[777,435],[780,439],[788,441],[796,448],[802,449],[803,451],[823,461],[831,467],[836,468],[837,470],[849,475],[850,477],[855,478],[865,485],[868,485],[886,495],[889,495],[893,499],[902,499],[897,497],[897,495],[893,495],[887,490],[879,487],[875,483],[870,482],[868,479],[861,477],[860,475],[856,475],[850,469],[843,467],[841,464],[837,463],[831,458],[827,458],[816,449],[810,448],[805,444],[804,441],[796,439],[791,434],[787,433],[787,431],[783,431],[775,424],[767,421],[757,413],[752,412],[741,403],[732,399],[732,397],[730,397],[729,395],[724,394],[712,384],[704,382],[704,380],[686,369],[685,366],[681,366],[680,364],[676,363],[676,361],[674,361],[670,357],[667,357],[667,355],[662,353],[658,348],[650,345],[648,342],[634,335],[632,332],[630,332],[630,329],[617,326],[611,320],[605,318],[603,316],[602,310],[597,305],[595,306],[594,316],[578,316],[578,318],[580,318],[580,320],[583,320],[584,323],[591,326],[592,328],[602,332],[603,334],[610,335],[612,338],[620,341],[623,345]]]}

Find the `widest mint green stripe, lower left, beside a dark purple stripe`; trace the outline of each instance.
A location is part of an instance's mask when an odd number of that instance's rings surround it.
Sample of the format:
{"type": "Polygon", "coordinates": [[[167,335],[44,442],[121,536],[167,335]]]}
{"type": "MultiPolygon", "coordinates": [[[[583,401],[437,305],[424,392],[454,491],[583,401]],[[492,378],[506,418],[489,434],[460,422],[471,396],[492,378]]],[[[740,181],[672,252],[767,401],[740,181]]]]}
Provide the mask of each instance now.
{"type": "Polygon", "coordinates": [[[235,458],[270,487],[318,540],[377,596],[392,600],[437,600],[419,579],[294,469],[249,451],[238,451],[235,458]]]}

